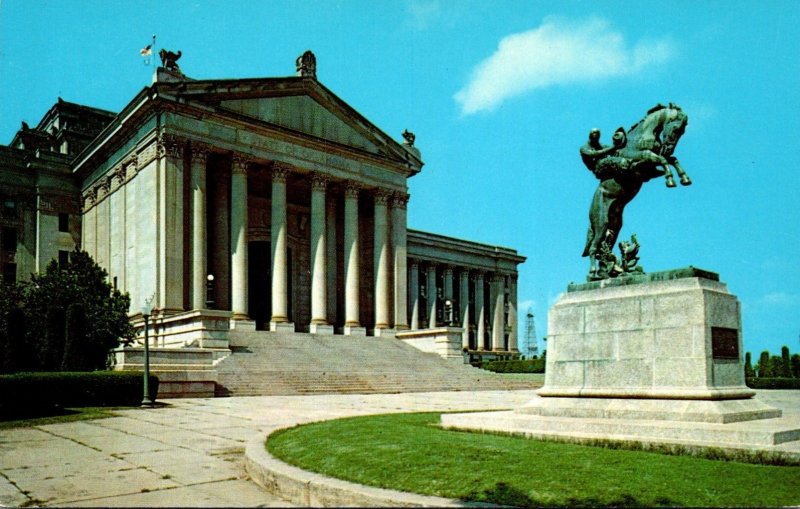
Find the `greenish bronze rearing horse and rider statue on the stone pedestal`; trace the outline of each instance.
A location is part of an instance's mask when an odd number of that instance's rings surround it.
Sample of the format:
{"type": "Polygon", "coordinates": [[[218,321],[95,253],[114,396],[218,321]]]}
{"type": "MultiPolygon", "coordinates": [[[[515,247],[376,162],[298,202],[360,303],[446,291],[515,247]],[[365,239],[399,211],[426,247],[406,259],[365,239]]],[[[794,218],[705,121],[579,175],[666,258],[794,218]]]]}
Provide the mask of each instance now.
{"type": "MultiPolygon", "coordinates": [[[[688,120],[679,106],[658,104],[627,133],[618,129],[614,134],[614,147],[598,151],[602,158],[590,169],[600,179],[600,185],[589,209],[589,232],[583,250],[583,256],[589,257],[590,281],[609,277],[599,267],[601,248],[604,243],[608,247],[616,243],[622,229],[622,211],[639,193],[642,184],[664,176],[667,187],[675,187],[670,166],[677,171],[682,185],[692,183],[674,156],[688,120]]],[[[597,147],[601,147],[599,143],[597,147]]]]}

